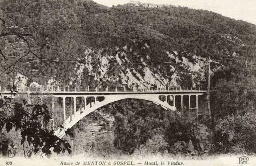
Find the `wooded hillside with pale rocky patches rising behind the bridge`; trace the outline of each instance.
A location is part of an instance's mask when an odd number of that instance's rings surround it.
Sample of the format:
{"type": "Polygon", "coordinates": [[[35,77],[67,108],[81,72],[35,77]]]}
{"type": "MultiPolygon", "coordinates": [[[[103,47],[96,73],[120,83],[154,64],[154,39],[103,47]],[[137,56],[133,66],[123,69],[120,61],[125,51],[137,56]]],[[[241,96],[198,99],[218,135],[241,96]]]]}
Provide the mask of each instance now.
{"type": "MultiPolygon", "coordinates": [[[[32,34],[27,39],[33,51],[55,60],[22,59],[12,75],[1,79],[5,85],[8,77],[21,73],[27,84],[203,86],[208,56],[216,59],[211,74],[217,79],[230,75],[226,68],[244,68],[246,59],[255,70],[256,25],[214,12],[128,4],[108,8],[91,0],[4,0],[1,7],[5,31],[32,34]]],[[[6,55],[20,57],[27,51],[18,38],[0,42],[6,55]]],[[[16,57],[1,57],[1,66],[16,57]]]]}

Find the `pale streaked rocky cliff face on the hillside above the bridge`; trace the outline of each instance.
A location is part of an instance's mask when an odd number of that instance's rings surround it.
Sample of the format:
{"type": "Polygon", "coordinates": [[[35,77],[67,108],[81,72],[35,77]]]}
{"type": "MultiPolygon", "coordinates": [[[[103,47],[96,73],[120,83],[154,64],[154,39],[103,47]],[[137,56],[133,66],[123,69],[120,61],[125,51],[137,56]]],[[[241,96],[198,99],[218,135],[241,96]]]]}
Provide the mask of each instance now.
{"type": "MultiPolygon", "coordinates": [[[[146,46],[147,44],[145,43],[145,47],[142,49],[148,49],[146,46]]],[[[169,73],[170,76],[167,76],[163,75],[154,65],[145,63],[150,57],[143,59],[140,55],[134,53],[137,58],[140,58],[140,62],[132,63],[129,48],[124,46],[122,49],[120,50],[116,47],[117,53],[111,55],[103,53],[101,49],[88,48],[84,53],[84,57],[80,60],[88,61],[89,63],[76,63],[74,68],[75,75],[72,78],[73,82],[81,85],[85,73],[93,76],[93,79],[99,82],[110,82],[127,85],[128,87],[180,86],[180,73],[191,75],[188,81],[192,82],[193,87],[206,81],[204,75],[205,71],[208,70],[208,59],[206,58],[196,55],[190,55],[190,59],[187,57],[180,58],[177,51],[166,51],[169,61],[162,62],[160,65],[168,66],[169,71],[166,71],[166,73],[169,73]],[[100,63],[95,64],[92,59],[98,59],[100,63]],[[178,69],[175,68],[176,66],[178,66],[178,69]]],[[[216,61],[211,60],[210,63],[212,65],[211,73],[221,67],[221,64],[216,61]]]]}

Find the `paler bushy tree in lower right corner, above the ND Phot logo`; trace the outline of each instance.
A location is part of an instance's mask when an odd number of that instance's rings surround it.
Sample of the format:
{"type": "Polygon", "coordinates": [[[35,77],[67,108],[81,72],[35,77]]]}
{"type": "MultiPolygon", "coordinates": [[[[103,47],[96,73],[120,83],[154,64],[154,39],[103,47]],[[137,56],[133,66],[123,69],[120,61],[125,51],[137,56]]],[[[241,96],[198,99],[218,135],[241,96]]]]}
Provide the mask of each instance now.
{"type": "Polygon", "coordinates": [[[216,124],[216,150],[221,153],[256,152],[256,114],[230,115],[216,124]]]}

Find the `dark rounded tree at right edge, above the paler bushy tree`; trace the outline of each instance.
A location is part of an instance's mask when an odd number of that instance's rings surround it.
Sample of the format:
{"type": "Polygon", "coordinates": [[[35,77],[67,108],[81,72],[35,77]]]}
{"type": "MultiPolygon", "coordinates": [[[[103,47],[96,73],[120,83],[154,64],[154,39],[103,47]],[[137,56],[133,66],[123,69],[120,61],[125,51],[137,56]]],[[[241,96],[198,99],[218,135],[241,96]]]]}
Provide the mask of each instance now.
{"type": "Polygon", "coordinates": [[[220,117],[244,115],[256,102],[256,78],[237,75],[230,80],[220,79],[213,96],[214,110],[220,117]]]}

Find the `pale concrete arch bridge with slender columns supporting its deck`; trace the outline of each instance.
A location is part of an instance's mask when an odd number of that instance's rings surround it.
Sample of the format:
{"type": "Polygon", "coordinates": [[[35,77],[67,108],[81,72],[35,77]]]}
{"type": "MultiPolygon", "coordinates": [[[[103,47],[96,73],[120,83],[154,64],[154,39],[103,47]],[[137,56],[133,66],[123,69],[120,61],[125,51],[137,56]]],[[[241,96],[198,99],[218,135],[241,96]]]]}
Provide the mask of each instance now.
{"type": "MultiPolygon", "coordinates": [[[[13,90],[13,89],[12,89],[13,90]]],[[[99,90],[86,88],[53,88],[52,89],[15,89],[12,95],[24,95],[28,97],[28,103],[47,103],[51,105],[52,122],[50,125],[56,129],[55,134],[62,138],[67,128],[71,128],[86,115],[109,103],[122,99],[142,99],[160,105],[164,109],[176,111],[177,109],[188,109],[196,115],[204,114],[206,109],[207,89],[202,88],[159,88],[99,90]],[[64,126],[56,127],[58,124],[64,126]]],[[[4,98],[10,97],[10,89],[0,89],[4,98]]]]}

